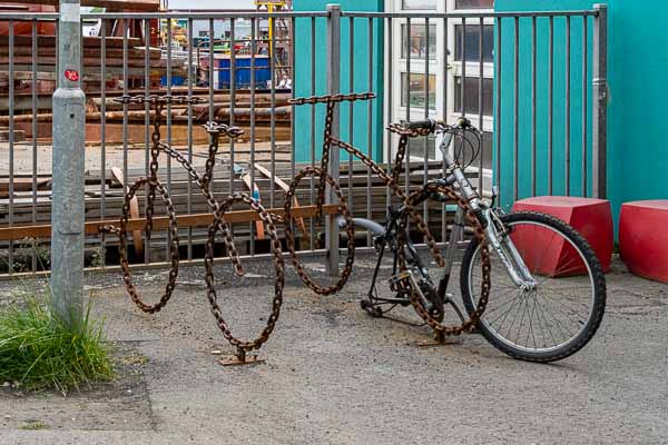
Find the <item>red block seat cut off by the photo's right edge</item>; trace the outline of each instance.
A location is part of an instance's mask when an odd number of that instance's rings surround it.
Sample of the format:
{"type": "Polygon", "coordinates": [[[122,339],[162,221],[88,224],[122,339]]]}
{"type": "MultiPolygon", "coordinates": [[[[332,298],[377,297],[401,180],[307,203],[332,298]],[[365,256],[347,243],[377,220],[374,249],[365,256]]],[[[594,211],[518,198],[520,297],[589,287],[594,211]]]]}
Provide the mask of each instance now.
{"type": "Polygon", "coordinates": [[[619,249],[632,274],[668,283],[667,199],[621,206],[619,249]]]}

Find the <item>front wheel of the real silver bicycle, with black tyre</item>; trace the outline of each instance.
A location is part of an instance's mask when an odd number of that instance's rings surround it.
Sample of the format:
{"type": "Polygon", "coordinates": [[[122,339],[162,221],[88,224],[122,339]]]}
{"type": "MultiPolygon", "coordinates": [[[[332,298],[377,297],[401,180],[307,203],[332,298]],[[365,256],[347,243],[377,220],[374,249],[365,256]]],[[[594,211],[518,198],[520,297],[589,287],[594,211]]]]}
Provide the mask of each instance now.
{"type": "MultiPolygon", "coordinates": [[[[501,218],[501,246],[519,253],[536,286],[520,288],[491,250],[491,289],[479,322],[482,335],[503,353],[529,362],[554,362],[580,350],[593,337],[606,308],[606,277],[593,250],[572,227],[544,214],[501,218]],[[511,241],[511,243],[509,243],[511,241]]],[[[460,285],[466,310],[480,294],[480,245],[462,259],[460,285]]]]}

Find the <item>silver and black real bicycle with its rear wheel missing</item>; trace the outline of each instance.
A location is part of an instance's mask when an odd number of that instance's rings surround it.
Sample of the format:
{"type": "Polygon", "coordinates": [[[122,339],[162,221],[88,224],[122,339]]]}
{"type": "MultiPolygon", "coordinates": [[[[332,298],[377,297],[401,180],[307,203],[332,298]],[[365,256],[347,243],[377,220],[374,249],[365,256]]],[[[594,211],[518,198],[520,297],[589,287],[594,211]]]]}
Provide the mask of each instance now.
{"type": "MultiPolygon", "coordinates": [[[[382,317],[394,307],[412,305],[435,329],[438,339],[443,334],[461,334],[477,327],[493,346],[503,353],[523,360],[548,363],[566,358],[580,350],[593,337],[601,324],[606,308],[606,278],[602,268],[584,238],[566,222],[544,214],[503,214],[492,201],[481,198],[464,175],[451,150],[456,137],[465,139],[472,134],[480,142],[480,131],[461,118],[456,125],[448,126],[436,120],[409,122],[406,134],[421,136],[436,134],[443,137],[440,150],[444,159],[444,175],[431,180],[413,192],[399,207],[390,207],[384,226],[353,218],[356,228],[369,230],[374,236],[379,253],[367,298],[361,301],[364,310],[382,317]],[[458,191],[453,196],[453,188],[458,191]],[[445,264],[435,277],[420,257],[407,231],[409,212],[426,200],[448,202],[459,199],[445,253],[445,264]],[[461,260],[460,290],[461,308],[454,294],[448,293],[455,254],[464,240],[468,204],[484,230],[484,238],[473,238],[461,260]],[[546,235],[550,235],[548,238],[546,235]],[[549,243],[546,240],[549,239],[549,243]],[[484,270],[483,251],[488,247],[492,255],[491,295],[481,314],[480,301],[473,296],[484,293],[485,281],[477,270],[484,270]],[[560,249],[560,268],[548,273],[544,258],[560,249]],[[393,296],[380,295],[379,273],[386,250],[393,255],[390,291],[393,296]],[[495,293],[495,295],[494,295],[495,293]],[[580,300],[583,301],[580,301],[580,300]],[[462,322],[459,329],[443,328],[445,310],[452,308],[462,322]],[[551,309],[551,310],[550,310],[551,309]],[[579,310],[576,310],[579,309],[579,310]],[[512,314],[511,314],[512,313],[512,314]],[[470,319],[465,319],[469,315],[470,319]]],[[[479,145],[480,146],[480,145],[479,145]]],[[[396,164],[395,164],[396,167],[396,164]]],[[[340,219],[344,227],[347,224],[340,219]]]]}

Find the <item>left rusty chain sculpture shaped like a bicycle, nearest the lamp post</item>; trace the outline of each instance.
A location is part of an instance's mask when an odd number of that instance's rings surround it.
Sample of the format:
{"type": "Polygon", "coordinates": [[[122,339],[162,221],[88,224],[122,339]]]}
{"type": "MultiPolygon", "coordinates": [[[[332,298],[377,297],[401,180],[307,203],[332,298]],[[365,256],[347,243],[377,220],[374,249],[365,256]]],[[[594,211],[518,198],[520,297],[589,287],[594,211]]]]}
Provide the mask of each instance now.
{"type": "Polygon", "coordinates": [[[234,196],[229,196],[223,202],[219,202],[214,197],[210,190],[210,181],[213,178],[213,170],[215,167],[215,156],[218,151],[219,147],[219,138],[220,136],[226,136],[230,139],[236,139],[244,134],[244,131],[238,127],[227,126],[225,123],[218,122],[207,122],[204,128],[209,134],[209,152],[206,160],[205,172],[202,176],[197,169],[177,150],[170,147],[167,144],[161,142],[160,137],[160,127],[161,127],[161,113],[164,106],[167,103],[199,103],[204,100],[200,98],[187,98],[187,97],[171,97],[171,96],[122,96],[120,98],[115,99],[121,103],[150,103],[155,108],[155,119],[154,119],[154,131],[151,134],[151,149],[150,149],[150,168],[149,168],[149,177],[138,179],[126,192],[125,201],[122,206],[122,215],[120,218],[119,227],[115,226],[102,226],[100,227],[101,233],[115,234],[119,238],[119,256],[120,256],[120,266],[124,273],[124,280],[128,294],[132,301],[139,307],[141,310],[154,314],[159,312],[169,300],[174,293],[174,288],[176,287],[176,279],[178,275],[178,225],[176,212],[174,210],[174,205],[171,202],[171,198],[169,192],[163,186],[163,184],[158,179],[158,160],[160,152],[165,152],[167,156],[175,159],[179,162],[184,169],[187,171],[188,177],[194,180],[197,186],[200,188],[202,194],[207,200],[207,204],[212,208],[214,212],[214,220],[209,227],[209,237],[207,241],[206,257],[205,257],[205,280],[208,287],[208,299],[212,306],[212,313],[216,318],[217,326],[219,327],[223,336],[237,348],[237,356],[239,358],[245,357],[245,353],[252,349],[259,348],[269,337],[271,333],[274,330],[276,322],[278,319],[281,313],[281,305],[283,303],[283,287],[285,284],[285,265],[283,260],[283,255],[281,251],[281,243],[278,241],[278,235],[276,231],[276,227],[274,221],[276,218],[273,218],[265,209],[259,205],[259,202],[245,195],[237,194],[234,196]],[[131,273],[129,269],[128,255],[127,255],[127,225],[130,214],[130,201],[135,197],[137,190],[141,187],[147,187],[147,208],[146,208],[146,218],[145,218],[145,231],[147,237],[150,237],[150,233],[153,230],[153,218],[155,214],[155,198],[156,191],[160,194],[163,201],[167,208],[167,215],[169,218],[169,239],[170,239],[170,269],[169,277],[167,280],[167,285],[165,287],[165,293],[160,297],[160,300],[156,304],[147,304],[145,303],[135,284],[132,283],[131,273]],[[274,264],[275,264],[275,277],[274,277],[274,299],[273,299],[273,308],[272,314],[268,318],[267,326],[263,329],[259,336],[254,340],[242,340],[237,339],[232,335],[229,327],[227,326],[225,319],[223,318],[220,307],[217,303],[216,291],[215,291],[215,280],[214,280],[214,244],[215,236],[217,231],[223,233],[224,243],[227,248],[227,254],[229,256],[230,263],[233,264],[235,274],[238,276],[244,275],[244,267],[240,261],[238,251],[236,250],[236,245],[234,241],[234,236],[232,233],[230,225],[225,221],[225,212],[229,210],[232,205],[236,202],[245,202],[253,210],[257,211],[259,218],[265,222],[267,227],[267,234],[272,239],[272,253],[274,255],[274,264]]]}

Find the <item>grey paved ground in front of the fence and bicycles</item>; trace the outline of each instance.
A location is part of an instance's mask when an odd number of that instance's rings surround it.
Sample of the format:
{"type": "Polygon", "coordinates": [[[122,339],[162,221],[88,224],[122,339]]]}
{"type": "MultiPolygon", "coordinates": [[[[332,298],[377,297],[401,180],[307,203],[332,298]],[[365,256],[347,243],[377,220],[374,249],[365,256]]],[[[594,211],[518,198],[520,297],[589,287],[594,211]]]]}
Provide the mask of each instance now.
{"type": "MultiPolygon", "coordinates": [[[[668,443],[668,286],[615,264],[597,337],[559,364],[534,365],[475,335],[421,348],[425,328],[365,316],[357,301],[371,269],[362,263],[334,297],[311,294],[291,273],[266,363],[247,367],[222,367],[212,354],[232,349],[199,269],[179,275],[155,316],[135,308],[120,277],[92,277],[96,310],[118,342],[118,380],[67,397],[0,390],[0,443],[668,443]]],[[[264,270],[222,286],[239,334],[268,314],[264,270]]],[[[164,276],[140,274],[147,298],[164,276]]]]}

